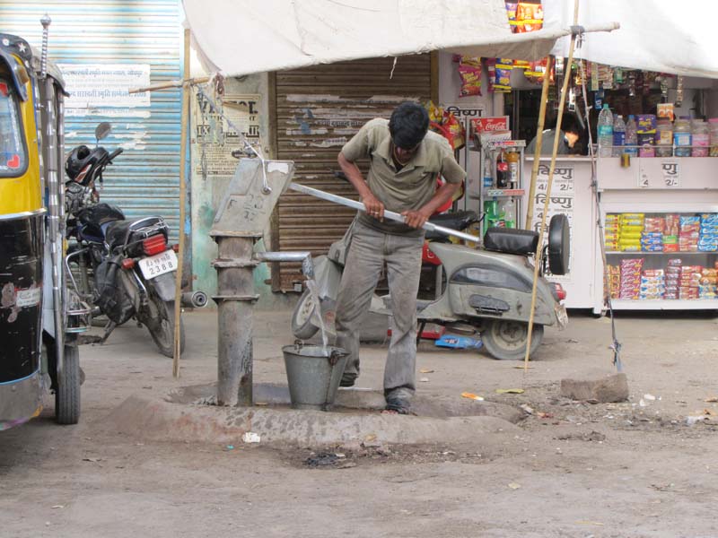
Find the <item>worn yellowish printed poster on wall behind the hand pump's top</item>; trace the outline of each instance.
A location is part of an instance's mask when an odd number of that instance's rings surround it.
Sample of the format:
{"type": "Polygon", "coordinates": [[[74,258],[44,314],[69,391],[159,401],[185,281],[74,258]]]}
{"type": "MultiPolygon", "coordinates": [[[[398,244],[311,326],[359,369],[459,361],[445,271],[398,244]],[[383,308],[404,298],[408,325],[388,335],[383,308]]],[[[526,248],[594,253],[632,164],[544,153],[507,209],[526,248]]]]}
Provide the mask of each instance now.
{"type": "Polygon", "coordinates": [[[224,95],[223,115],[229,118],[228,122],[213,112],[202,94],[197,95],[191,139],[197,155],[194,160],[197,174],[203,177],[234,174],[238,161],[232,157],[232,152],[243,148],[241,136],[253,144],[259,141],[259,99],[260,95],[256,93],[224,95]]]}

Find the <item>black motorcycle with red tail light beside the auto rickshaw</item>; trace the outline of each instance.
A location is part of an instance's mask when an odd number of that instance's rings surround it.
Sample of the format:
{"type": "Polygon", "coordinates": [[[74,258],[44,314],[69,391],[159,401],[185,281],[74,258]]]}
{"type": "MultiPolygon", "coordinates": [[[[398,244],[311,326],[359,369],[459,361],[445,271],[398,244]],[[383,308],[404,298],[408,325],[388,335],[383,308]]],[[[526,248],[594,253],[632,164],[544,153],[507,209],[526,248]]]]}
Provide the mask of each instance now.
{"type": "MultiPolygon", "coordinates": [[[[168,243],[170,230],[162,217],[127,221],[118,207],[100,202],[102,173],[122,153],[99,145],[110,130],[109,124],[100,124],[96,147],[77,146],[66,159],[67,238],[74,239],[66,256],[67,273],[83,299],[95,306],[94,315],[108,317],[101,343],[115,327],[135,318],[162,354],[172,357],[176,249],[168,243]]],[[[197,302],[202,304],[192,306],[204,306],[206,299],[200,296],[197,302]]],[[[180,318],[180,350],[184,343],[180,318]]]]}

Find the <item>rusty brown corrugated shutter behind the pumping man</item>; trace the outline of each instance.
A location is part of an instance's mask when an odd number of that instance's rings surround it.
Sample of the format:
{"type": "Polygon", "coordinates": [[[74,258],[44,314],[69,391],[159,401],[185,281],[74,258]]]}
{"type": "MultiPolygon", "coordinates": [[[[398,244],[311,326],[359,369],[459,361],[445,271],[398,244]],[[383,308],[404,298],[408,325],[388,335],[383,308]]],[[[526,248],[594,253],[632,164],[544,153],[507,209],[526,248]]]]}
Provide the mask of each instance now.
{"type": "MultiPolygon", "coordinates": [[[[277,73],[277,158],[295,162],[297,182],[356,198],[353,187],[333,176],[339,169],[339,150],[368,120],[389,117],[398,102],[428,100],[431,82],[428,54],[401,56],[396,66],[393,58],[372,58],[277,73]]],[[[325,254],[355,213],[287,192],[277,206],[272,247],[325,254]]],[[[293,290],[293,283],[301,280],[298,265],[273,267],[275,291],[293,290]]]]}

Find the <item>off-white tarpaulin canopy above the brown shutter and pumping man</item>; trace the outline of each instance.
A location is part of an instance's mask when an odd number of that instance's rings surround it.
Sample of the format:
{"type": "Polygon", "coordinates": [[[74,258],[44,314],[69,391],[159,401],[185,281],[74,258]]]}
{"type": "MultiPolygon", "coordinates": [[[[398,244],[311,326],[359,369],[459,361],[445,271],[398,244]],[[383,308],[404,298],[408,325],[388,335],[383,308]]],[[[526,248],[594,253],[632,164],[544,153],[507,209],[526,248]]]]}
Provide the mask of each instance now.
{"type": "Polygon", "coordinates": [[[225,75],[445,49],[527,60],[567,26],[512,34],[503,0],[184,0],[200,56],[225,75]]]}

